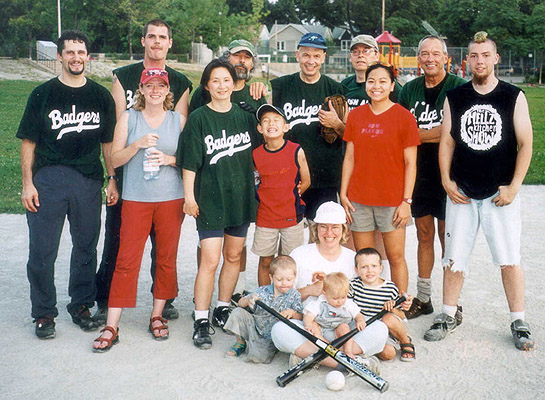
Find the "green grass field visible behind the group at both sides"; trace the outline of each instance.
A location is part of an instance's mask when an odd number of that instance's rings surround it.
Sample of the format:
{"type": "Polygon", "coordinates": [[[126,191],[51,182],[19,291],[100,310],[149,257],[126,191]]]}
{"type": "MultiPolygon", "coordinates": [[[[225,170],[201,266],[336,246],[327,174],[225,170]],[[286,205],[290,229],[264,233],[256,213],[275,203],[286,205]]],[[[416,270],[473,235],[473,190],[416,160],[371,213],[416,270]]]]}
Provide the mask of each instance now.
{"type": "MultiPolygon", "coordinates": [[[[200,73],[187,76],[198,86],[200,73]]],[[[257,79],[263,81],[262,79],[257,79]]],[[[110,80],[99,80],[108,89],[110,80]]],[[[27,98],[41,82],[0,80],[0,213],[23,213],[21,205],[20,140],[15,137],[27,98]]],[[[545,88],[524,87],[534,128],[534,153],[525,184],[545,184],[545,88]]]]}

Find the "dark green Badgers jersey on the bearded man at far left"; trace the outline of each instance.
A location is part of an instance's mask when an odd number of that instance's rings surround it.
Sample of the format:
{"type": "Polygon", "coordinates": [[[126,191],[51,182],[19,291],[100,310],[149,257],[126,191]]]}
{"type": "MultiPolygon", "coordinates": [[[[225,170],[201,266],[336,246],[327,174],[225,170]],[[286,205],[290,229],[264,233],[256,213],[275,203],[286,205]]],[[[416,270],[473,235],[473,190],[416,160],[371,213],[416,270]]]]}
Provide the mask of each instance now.
{"type": "Polygon", "coordinates": [[[101,143],[112,141],[114,127],[115,104],[106,88],[89,78],[81,87],[53,78],[30,94],[17,137],[36,143],[33,174],[66,165],[103,180],[101,143]]]}

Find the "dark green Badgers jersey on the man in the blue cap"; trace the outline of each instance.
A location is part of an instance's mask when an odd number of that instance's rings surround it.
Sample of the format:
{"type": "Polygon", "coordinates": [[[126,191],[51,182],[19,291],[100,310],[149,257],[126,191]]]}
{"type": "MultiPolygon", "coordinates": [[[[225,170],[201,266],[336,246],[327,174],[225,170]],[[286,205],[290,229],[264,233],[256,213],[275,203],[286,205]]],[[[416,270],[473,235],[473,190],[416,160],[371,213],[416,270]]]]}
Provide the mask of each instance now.
{"type": "Polygon", "coordinates": [[[340,188],[343,162],[342,140],[333,144],[320,137],[318,111],[327,96],[342,93],[342,86],[322,75],[316,83],[301,80],[299,72],[271,81],[273,104],[284,111],[290,131],[286,138],[305,151],[312,188],[340,188]]]}

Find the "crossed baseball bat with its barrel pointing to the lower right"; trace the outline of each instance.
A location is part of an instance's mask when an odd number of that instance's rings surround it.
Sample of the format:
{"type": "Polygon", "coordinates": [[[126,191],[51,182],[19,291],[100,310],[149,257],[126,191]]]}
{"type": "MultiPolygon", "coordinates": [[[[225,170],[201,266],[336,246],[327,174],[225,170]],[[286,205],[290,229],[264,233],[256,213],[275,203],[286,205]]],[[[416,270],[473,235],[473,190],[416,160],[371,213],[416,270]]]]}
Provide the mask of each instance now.
{"type": "Polygon", "coordinates": [[[347,370],[354,373],[354,375],[359,376],[361,379],[369,383],[375,389],[379,390],[380,392],[385,392],[386,390],[388,390],[388,382],[386,382],[380,376],[371,372],[369,369],[367,369],[365,366],[361,365],[354,359],[348,357],[341,350],[337,349],[336,347],[333,347],[329,343],[324,342],[322,339],[317,338],[316,336],[314,336],[312,333],[308,332],[307,330],[294,324],[289,319],[285,318],[283,315],[278,313],[276,310],[267,306],[261,300],[257,300],[256,304],[260,306],[261,308],[263,308],[268,313],[270,313],[271,315],[278,318],[280,321],[284,322],[290,328],[294,329],[295,331],[297,331],[298,333],[306,337],[308,340],[314,343],[318,348],[322,349],[329,357],[333,358],[339,364],[344,366],[347,370]]]}

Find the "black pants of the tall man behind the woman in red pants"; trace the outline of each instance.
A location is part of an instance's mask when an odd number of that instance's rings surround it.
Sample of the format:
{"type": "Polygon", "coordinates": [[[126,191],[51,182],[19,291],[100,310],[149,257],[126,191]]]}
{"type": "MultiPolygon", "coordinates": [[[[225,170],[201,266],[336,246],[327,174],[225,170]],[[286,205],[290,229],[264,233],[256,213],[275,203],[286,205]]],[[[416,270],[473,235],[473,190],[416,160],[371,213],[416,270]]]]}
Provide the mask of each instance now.
{"type": "MultiPolygon", "coordinates": [[[[117,190],[121,196],[123,190],[122,169],[118,168],[116,174],[119,177],[117,181],[117,190]]],[[[110,296],[110,287],[112,285],[112,277],[114,275],[115,262],[117,253],[119,252],[119,232],[121,230],[121,204],[120,199],[114,206],[106,206],[106,224],[104,232],[104,249],[102,251],[102,260],[96,275],[96,302],[99,307],[108,307],[108,298],[110,296]]],[[[155,231],[153,225],[150,231],[151,240],[151,278],[155,280],[155,231]]],[[[153,284],[151,285],[153,293],[153,284]]],[[[168,300],[167,303],[172,303],[174,299],[168,300]]]]}

